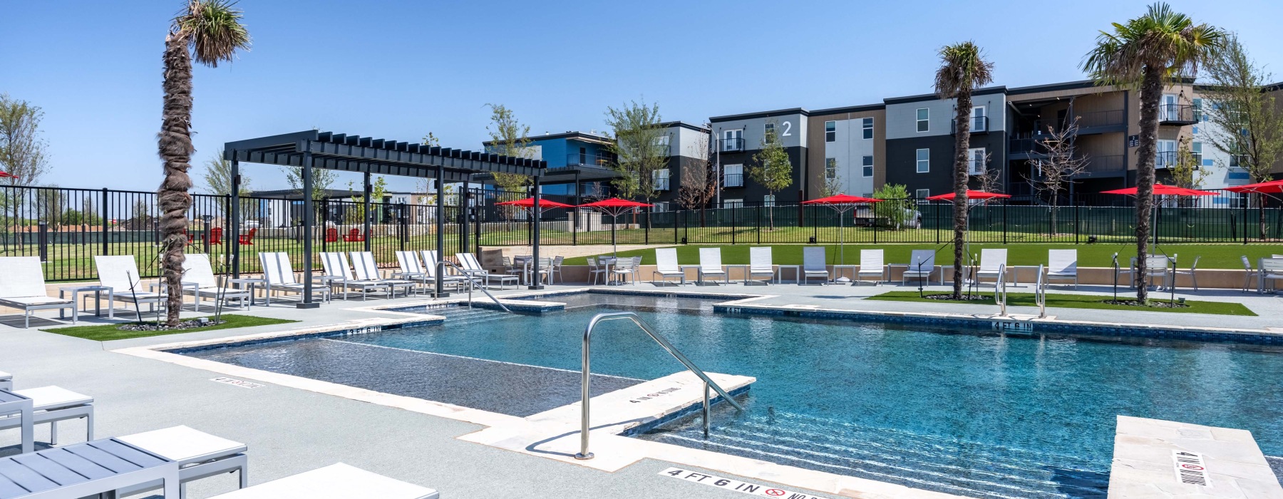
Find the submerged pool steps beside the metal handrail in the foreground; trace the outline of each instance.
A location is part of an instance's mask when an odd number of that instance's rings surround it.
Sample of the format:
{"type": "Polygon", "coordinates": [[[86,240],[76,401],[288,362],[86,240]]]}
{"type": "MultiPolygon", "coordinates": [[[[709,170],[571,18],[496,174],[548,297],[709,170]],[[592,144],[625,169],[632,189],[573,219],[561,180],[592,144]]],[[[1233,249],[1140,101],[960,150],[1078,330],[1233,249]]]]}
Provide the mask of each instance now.
{"type": "Polygon", "coordinates": [[[708,440],[698,419],[647,439],[975,498],[1103,498],[1107,486],[1073,459],[1019,449],[781,412],[713,421],[708,440]]]}

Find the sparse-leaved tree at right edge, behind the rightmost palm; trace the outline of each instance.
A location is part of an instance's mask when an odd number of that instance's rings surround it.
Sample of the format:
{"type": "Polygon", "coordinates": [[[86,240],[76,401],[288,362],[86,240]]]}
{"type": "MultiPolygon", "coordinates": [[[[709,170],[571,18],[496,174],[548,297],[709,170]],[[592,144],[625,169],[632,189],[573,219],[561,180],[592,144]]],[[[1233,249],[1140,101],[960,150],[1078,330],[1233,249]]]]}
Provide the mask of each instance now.
{"type": "MultiPolygon", "coordinates": [[[[1202,114],[1212,124],[1205,127],[1203,140],[1234,158],[1227,167],[1242,168],[1252,183],[1269,181],[1270,168],[1283,160],[1283,105],[1264,91],[1274,76],[1247,54],[1238,36],[1229,36],[1224,50],[1203,64],[1203,78],[1202,114]]],[[[1264,207],[1264,194],[1256,196],[1264,207]]],[[[1264,240],[1269,224],[1265,210],[1257,213],[1264,240]]]]}

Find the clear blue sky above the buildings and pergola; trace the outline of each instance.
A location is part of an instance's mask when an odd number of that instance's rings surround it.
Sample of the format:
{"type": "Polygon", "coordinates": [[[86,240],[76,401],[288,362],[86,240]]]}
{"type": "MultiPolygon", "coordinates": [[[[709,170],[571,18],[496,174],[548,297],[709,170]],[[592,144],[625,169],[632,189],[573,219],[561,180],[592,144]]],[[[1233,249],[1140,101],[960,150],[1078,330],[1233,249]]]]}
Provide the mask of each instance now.
{"type": "MultiPolygon", "coordinates": [[[[45,109],[53,172],[42,183],[159,185],[160,55],[181,4],[0,6],[0,92],[45,109]]],[[[878,103],[931,91],[935,50],[967,38],[996,63],[998,85],[1082,80],[1078,64],[1097,31],[1146,5],[241,0],[254,46],[232,64],[196,69],[192,163],[230,140],[310,128],[403,141],[431,131],[445,146],[475,150],[486,139],[486,103],[509,106],[532,133],[602,130],[607,105],[643,97],[665,119],[695,123],[878,103]]],[[[1239,32],[1283,73],[1283,3],[1173,5],[1239,32]]],[[[246,173],[254,187],[285,186],[276,167],[246,173]]]]}

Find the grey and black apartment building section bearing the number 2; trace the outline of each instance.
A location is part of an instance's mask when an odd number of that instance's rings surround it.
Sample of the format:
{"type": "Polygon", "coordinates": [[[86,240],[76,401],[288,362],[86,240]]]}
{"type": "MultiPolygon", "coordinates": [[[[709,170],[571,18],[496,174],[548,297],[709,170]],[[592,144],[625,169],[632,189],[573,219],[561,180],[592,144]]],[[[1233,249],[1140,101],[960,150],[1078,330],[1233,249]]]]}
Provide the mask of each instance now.
{"type": "Polygon", "coordinates": [[[807,199],[808,119],[810,113],[801,108],[709,118],[709,128],[716,137],[715,160],[722,178],[720,205],[789,205],[807,199]],[[754,164],[753,155],[762,150],[762,139],[769,128],[775,130],[793,164],[793,183],[774,194],[748,176],[748,168],[754,164]]]}

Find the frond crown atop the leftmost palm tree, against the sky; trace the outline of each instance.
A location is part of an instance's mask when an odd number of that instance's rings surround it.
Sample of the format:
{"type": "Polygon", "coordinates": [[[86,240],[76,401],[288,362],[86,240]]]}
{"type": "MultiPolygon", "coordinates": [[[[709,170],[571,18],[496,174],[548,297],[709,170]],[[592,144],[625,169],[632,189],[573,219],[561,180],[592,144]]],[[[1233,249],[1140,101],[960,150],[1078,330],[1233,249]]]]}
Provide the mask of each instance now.
{"type": "Polygon", "coordinates": [[[221,62],[231,62],[237,50],[250,47],[241,18],[236,1],[189,0],[186,9],[173,18],[171,31],[187,41],[198,63],[218,67],[221,62]]]}

